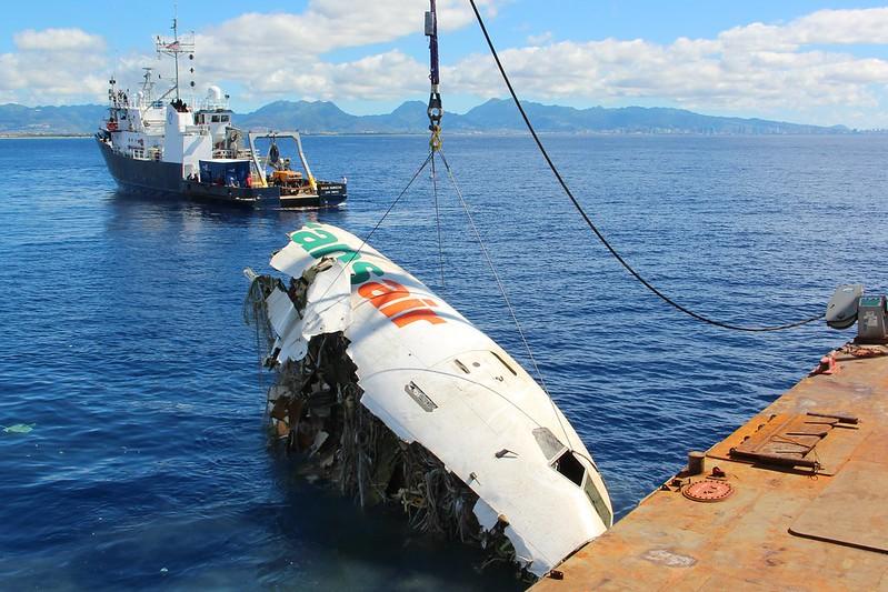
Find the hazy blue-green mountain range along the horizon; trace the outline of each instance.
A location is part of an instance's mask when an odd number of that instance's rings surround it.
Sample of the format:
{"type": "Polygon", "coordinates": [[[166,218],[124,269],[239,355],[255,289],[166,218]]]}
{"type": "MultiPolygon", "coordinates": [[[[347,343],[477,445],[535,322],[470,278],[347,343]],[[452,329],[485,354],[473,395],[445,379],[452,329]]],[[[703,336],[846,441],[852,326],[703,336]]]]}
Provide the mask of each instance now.
{"type": "MultiPolygon", "coordinates": [[[[824,134],[848,133],[845,126],[808,126],[714,117],[685,109],[622,107],[575,109],[526,102],[530,120],[540,132],[567,133],[701,133],[701,134],[824,134]]],[[[92,133],[107,108],[99,104],[67,107],[0,106],[0,136],[76,136],[92,133]]],[[[420,133],[427,131],[426,106],[408,101],[379,116],[352,116],[328,101],[275,101],[235,119],[241,128],[298,129],[303,133],[420,133]]],[[[443,127],[465,133],[523,131],[511,101],[490,99],[465,114],[446,113],[443,127]]]]}

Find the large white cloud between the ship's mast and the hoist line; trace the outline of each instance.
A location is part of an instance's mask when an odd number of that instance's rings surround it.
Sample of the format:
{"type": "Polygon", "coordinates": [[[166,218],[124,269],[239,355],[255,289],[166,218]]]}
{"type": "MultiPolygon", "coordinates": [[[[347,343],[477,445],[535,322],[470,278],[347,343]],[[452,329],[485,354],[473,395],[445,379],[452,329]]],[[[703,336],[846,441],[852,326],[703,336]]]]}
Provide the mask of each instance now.
{"type": "MultiPolygon", "coordinates": [[[[488,16],[507,0],[480,0],[488,16]]],[[[385,44],[423,33],[417,0],[312,0],[301,13],[241,14],[198,31],[196,82],[235,82],[259,100],[397,100],[428,91],[428,66],[398,49],[333,62],[336,50],[385,44]],[[261,31],[261,34],[257,34],[261,31]]],[[[465,0],[438,0],[439,32],[473,22],[465,0]]]]}

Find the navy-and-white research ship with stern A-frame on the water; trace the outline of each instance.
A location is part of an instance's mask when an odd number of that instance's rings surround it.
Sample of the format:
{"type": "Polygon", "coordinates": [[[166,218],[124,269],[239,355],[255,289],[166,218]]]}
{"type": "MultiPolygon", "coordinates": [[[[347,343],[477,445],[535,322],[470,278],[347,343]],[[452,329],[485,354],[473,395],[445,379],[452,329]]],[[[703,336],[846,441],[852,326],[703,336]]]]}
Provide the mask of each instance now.
{"type": "MultiPolygon", "coordinates": [[[[160,79],[144,68],[131,94],[109,80],[108,118],[96,133],[108,170],[127,191],[221,201],[256,208],[338,208],[347,182],[315,178],[298,131],[241,130],[229,96],[217,86],[191,104],[179,89],[180,59],[194,58],[193,39],[156,39],[156,50],[176,64],[173,82],[156,96],[160,79]],[[199,104],[194,104],[194,103],[199,104]],[[289,152],[288,152],[289,150],[289,152]],[[290,155],[287,155],[290,154],[290,155]]],[[[193,73],[193,67],[188,72],[193,73]]]]}

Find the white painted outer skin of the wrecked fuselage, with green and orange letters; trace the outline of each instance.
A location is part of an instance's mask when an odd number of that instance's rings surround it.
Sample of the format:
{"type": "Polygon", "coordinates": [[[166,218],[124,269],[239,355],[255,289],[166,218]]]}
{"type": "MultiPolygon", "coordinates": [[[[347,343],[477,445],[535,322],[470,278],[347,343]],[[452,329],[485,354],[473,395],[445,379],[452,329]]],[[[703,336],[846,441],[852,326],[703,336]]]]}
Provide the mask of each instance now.
{"type": "MultiPolygon", "coordinates": [[[[309,223],[291,233],[271,267],[299,278],[323,257],[345,264],[341,273],[351,279],[350,287],[323,291],[330,318],[320,321],[342,323],[361,404],[479,495],[475,514],[482,528],[502,516],[521,564],[542,575],[611,525],[591,455],[518,362],[413,275],[339,228],[309,223]],[[570,462],[559,465],[568,454],[570,462]]],[[[271,322],[279,327],[281,357],[298,359],[307,349],[309,314],[297,321],[290,308],[271,314],[271,322]]]]}

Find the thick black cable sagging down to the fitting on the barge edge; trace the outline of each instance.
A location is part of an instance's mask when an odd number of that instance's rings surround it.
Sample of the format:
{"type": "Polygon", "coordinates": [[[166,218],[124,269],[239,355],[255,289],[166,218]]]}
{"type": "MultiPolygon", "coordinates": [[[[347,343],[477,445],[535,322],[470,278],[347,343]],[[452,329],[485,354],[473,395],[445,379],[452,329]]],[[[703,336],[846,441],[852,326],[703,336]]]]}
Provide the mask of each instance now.
{"type": "Polygon", "coordinates": [[[577,198],[573,197],[573,193],[567,187],[567,183],[561,178],[561,173],[558,172],[558,169],[556,168],[555,163],[552,162],[552,159],[549,158],[549,153],[546,151],[546,148],[542,146],[542,142],[540,141],[539,137],[537,136],[537,131],[533,129],[532,123],[530,123],[530,119],[527,117],[527,113],[525,112],[525,108],[521,104],[521,101],[518,99],[518,96],[516,94],[515,89],[512,88],[512,83],[509,80],[509,76],[506,73],[506,70],[502,68],[502,62],[499,61],[499,54],[497,53],[497,50],[493,47],[493,42],[490,40],[490,36],[487,32],[487,27],[485,27],[485,21],[481,18],[481,13],[478,11],[478,7],[475,4],[475,0],[469,0],[469,3],[471,4],[472,10],[475,11],[476,19],[478,19],[478,24],[481,27],[481,32],[483,33],[485,39],[487,40],[487,46],[490,48],[490,53],[493,56],[493,60],[496,60],[496,62],[497,62],[497,68],[499,68],[499,73],[502,74],[502,80],[503,80],[503,82],[506,82],[506,87],[508,87],[508,89],[509,89],[509,94],[511,94],[512,100],[515,101],[515,106],[518,108],[518,111],[521,113],[521,118],[525,120],[525,124],[527,126],[527,129],[530,131],[530,134],[533,137],[533,141],[537,142],[537,147],[539,148],[540,152],[542,153],[542,158],[546,159],[546,163],[549,165],[549,169],[551,169],[552,174],[555,174],[555,178],[558,179],[558,183],[561,185],[561,189],[565,190],[565,193],[567,193],[567,197],[570,198],[570,201],[573,203],[573,208],[577,209],[577,211],[580,213],[582,219],[586,221],[586,224],[591,229],[592,232],[595,232],[595,235],[598,237],[598,240],[601,241],[601,244],[603,244],[605,248],[608,251],[610,251],[610,254],[613,255],[613,258],[617,261],[619,261],[619,263],[626,269],[626,271],[631,273],[632,277],[636,280],[638,280],[645,288],[647,288],[648,290],[653,292],[656,295],[658,295],[663,302],[666,302],[667,304],[670,304],[671,307],[675,307],[677,310],[684,312],[688,317],[692,317],[694,319],[697,319],[698,321],[702,321],[705,323],[709,323],[709,324],[715,325],[715,327],[720,327],[722,329],[731,329],[734,331],[748,331],[748,332],[782,331],[785,329],[792,329],[795,327],[800,327],[802,324],[811,323],[811,322],[817,321],[819,319],[822,319],[825,317],[825,314],[818,314],[817,317],[811,317],[809,319],[805,319],[805,320],[801,320],[801,321],[796,321],[796,322],[775,325],[775,327],[741,327],[741,325],[725,323],[725,322],[721,322],[721,321],[716,321],[714,319],[709,319],[707,317],[704,317],[702,314],[694,312],[692,310],[679,304],[678,302],[676,302],[675,300],[672,300],[668,295],[666,295],[662,292],[660,292],[648,280],[642,278],[641,274],[638,273],[635,269],[632,269],[632,267],[622,258],[622,255],[620,255],[620,253],[618,253],[617,250],[613,247],[611,247],[610,242],[608,242],[608,240],[605,238],[605,235],[601,233],[601,231],[598,230],[598,227],[595,225],[595,222],[592,222],[592,220],[589,218],[589,214],[586,213],[586,210],[582,209],[582,205],[580,205],[579,201],[577,201],[577,198]]]}

